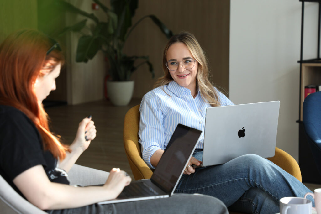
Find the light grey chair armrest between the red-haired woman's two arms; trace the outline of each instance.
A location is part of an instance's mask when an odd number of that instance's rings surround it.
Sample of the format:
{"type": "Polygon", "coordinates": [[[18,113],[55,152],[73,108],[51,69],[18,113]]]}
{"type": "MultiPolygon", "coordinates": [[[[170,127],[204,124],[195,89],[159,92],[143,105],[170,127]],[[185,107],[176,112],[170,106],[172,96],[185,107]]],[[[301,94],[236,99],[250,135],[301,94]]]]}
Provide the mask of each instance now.
{"type": "Polygon", "coordinates": [[[105,184],[109,172],[74,164],[68,172],[70,185],[90,186],[105,184]]]}

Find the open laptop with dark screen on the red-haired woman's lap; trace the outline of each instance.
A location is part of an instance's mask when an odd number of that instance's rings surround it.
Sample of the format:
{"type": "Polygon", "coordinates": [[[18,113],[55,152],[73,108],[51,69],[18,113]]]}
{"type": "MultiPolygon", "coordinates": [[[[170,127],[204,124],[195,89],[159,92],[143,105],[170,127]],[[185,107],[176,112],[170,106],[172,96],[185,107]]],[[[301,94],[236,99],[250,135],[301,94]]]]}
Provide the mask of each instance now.
{"type": "Polygon", "coordinates": [[[122,193],[98,204],[166,198],[174,193],[202,131],[178,124],[151,177],[131,182],[122,193]]]}

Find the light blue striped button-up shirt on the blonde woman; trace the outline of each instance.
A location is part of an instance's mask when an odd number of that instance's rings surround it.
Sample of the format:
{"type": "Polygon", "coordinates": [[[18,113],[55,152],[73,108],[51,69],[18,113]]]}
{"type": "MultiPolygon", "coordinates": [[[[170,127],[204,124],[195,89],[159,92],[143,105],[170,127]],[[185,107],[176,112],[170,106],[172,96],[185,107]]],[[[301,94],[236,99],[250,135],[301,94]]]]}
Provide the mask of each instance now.
{"type": "MultiPolygon", "coordinates": [[[[215,88],[215,90],[217,90],[215,88]]],[[[218,91],[218,90],[217,90],[218,91]]],[[[218,91],[221,106],[234,105],[218,91]]],[[[191,91],[175,81],[160,86],[144,95],[140,105],[139,142],[142,156],[147,165],[156,150],[165,150],[178,124],[203,131],[196,148],[203,148],[206,108],[199,91],[195,99],[191,91]]]]}

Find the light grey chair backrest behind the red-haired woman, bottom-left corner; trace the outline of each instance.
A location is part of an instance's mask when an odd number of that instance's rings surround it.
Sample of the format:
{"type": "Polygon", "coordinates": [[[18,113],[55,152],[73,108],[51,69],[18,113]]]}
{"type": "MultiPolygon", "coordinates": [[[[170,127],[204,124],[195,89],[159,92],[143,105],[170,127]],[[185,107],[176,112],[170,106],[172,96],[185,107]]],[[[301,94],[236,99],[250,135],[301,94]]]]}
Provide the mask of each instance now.
{"type": "Polygon", "coordinates": [[[45,214],[21,197],[0,175],[0,213],[45,214]]]}

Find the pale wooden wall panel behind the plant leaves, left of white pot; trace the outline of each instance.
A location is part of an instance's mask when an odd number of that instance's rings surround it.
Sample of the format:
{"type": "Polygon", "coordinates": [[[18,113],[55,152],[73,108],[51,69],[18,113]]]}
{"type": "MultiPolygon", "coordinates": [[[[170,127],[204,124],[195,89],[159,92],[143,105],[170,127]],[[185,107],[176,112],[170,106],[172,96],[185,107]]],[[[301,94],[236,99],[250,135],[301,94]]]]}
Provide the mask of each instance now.
{"type": "MultiPolygon", "coordinates": [[[[69,0],[71,4],[88,13],[94,13],[99,19],[105,19],[105,13],[100,9],[93,11],[91,1],[69,0]]],[[[85,19],[84,16],[66,14],[66,25],[70,26],[85,19]]],[[[88,20],[90,25],[92,21],[88,20]]],[[[104,98],[104,78],[106,66],[102,52],[99,52],[87,63],[76,63],[76,49],[80,33],[69,33],[66,39],[66,69],[67,69],[67,100],[69,104],[79,104],[104,98]]]]}

